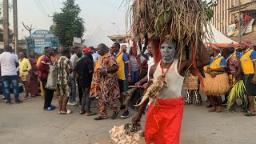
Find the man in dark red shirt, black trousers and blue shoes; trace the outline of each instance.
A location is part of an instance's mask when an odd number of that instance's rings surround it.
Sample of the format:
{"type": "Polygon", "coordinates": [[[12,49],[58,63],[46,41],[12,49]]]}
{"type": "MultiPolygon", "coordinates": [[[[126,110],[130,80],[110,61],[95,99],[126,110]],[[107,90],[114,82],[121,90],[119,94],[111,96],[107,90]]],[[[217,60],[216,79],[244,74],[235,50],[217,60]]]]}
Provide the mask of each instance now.
{"type": "Polygon", "coordinates": [[[56,107],[51,105],[51,101],[54,96],[54,90],[46,88],[46,82],[49,74],[50,65],[52,64],[50,56],[52,55],[52,48],[45,47],[45,55],[38,66],[38,73],[40,81],[42,82],[43,89],[45,90],[45,103],[43,110],[54,110],[56,107]]]}

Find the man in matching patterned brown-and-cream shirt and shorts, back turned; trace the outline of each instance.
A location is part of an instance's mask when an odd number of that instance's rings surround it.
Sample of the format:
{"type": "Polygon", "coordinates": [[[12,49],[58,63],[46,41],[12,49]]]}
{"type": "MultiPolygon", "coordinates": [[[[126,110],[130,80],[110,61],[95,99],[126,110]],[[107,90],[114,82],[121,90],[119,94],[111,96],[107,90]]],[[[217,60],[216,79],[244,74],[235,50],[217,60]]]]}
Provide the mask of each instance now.
{"type": "Polygon", "coordinates": [[[71,114],[71,110],[66,109],[67,102],[71,94],[69,75],[71,74],[70,50],[63,50],[62,56],[57,59],[57,84],[60,91],[58,98],[58,114],[71,114]]]}

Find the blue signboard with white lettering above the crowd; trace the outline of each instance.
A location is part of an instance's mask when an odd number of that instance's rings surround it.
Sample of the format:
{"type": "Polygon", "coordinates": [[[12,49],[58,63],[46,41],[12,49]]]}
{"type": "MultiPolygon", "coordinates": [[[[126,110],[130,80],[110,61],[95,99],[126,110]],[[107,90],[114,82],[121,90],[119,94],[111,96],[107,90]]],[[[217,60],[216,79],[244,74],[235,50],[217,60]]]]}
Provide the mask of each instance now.
{"type": "Polygon", "coordinates": [[[30,37],[26,38],[26,47],[28,51],[34,51],[36,54],[44,54],[44,48],[50,46],[58,48],[58,38],[48,30],[36,30],[30,37]]]}

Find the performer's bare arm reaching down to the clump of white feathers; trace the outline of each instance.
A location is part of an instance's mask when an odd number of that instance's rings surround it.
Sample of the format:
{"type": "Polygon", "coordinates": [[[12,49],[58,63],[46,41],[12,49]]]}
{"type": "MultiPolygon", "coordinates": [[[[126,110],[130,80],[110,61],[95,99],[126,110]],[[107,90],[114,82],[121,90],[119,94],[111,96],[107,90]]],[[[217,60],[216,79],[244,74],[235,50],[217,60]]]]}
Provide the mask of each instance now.
{"type": "MultiPolygon", "coordinates": [[[[147,85],[146,85],[146,90],[149,88],[149,86],[153,83],[152,82],[152,78],[154,78],[154,72],[155,70],[157,69],[157,66],[158,66],[158,63],[155,64],[154,66],[151,66],[150,67],[150,80],[148,81],[147,85]]],[[[144,91],[144,93],[146,93],[146,90],[144,91]]],[[[138,110],[138,114],[133,118],[132,122],[133,123],[138,123],[141,121],[141,118],[142,118],[142,114],[145,114],[145,109],[146,109],[146,105],[147,103],[149,102],[149,98],[147,98],[143,103],[142,105],[139,107],[139,110],[138,110]]]]}

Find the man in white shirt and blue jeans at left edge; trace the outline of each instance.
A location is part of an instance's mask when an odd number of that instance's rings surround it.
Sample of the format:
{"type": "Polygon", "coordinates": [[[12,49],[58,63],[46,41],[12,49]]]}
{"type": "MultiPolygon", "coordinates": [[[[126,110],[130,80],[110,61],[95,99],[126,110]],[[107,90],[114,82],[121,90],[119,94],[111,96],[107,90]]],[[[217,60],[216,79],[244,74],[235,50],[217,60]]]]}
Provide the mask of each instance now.
{"type": "Polygon", "coordinates": [[[7,45],[4,47],[4,52],[0,54],[0,65],[6,103],[11,103],[10,84],[14,87],[15,103],[21,103],[22,101],[18,99],[18,56],[16,54],[12,54],[11,46],[7,45]]]}

